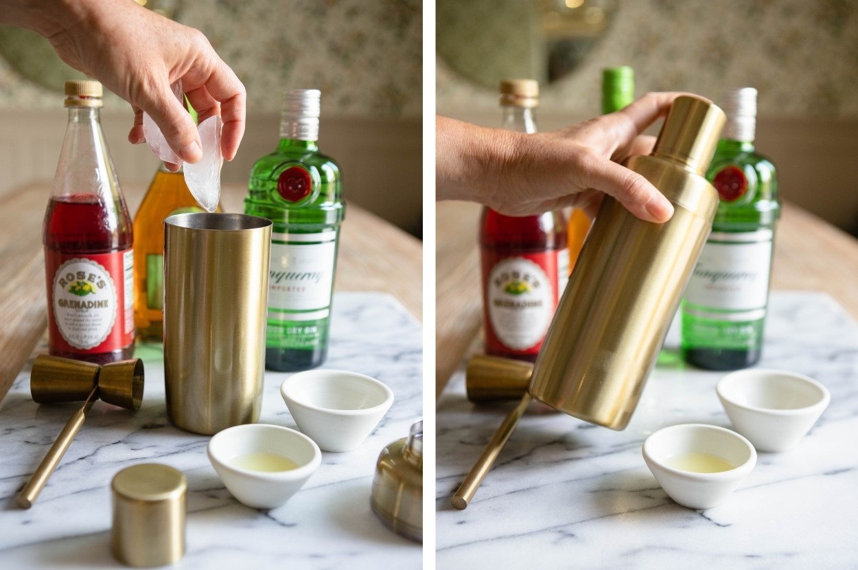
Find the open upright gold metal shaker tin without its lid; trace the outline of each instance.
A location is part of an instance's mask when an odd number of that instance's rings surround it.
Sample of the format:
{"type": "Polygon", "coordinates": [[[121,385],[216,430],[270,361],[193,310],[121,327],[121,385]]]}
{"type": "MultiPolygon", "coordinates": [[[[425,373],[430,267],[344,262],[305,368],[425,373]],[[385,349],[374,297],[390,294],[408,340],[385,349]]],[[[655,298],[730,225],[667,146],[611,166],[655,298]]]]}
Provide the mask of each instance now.
{"type": "Polygon", "coordinates": [[[259,419],[271,221],[178,214],[164,221],[164,379],[178,428],[212,435],[259,419]]]}

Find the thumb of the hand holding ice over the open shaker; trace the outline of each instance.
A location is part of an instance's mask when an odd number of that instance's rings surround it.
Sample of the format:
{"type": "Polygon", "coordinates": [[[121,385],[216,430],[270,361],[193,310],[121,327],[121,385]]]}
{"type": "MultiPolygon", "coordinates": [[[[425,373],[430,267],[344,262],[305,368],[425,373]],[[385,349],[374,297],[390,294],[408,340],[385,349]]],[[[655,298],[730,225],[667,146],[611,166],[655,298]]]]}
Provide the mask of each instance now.
{"type": "Polygon", "coordinates": [[[158,125],[173,152],[185,162],[199,161],[202,158],[202,146],[196,124],[176,95],[172,94],[170,86],[163,82],[154,93],[147,95],[148,100],[142,100],[139,106],[158,125]]]}

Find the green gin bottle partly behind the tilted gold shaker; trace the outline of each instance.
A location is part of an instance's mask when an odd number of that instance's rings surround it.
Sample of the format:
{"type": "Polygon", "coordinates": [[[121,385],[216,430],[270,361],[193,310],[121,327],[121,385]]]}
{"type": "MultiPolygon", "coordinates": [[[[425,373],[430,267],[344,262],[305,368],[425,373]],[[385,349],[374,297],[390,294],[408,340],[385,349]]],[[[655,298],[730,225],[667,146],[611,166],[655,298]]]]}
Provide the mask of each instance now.
{"type": "Polygon", "coordinates": [[[682,301],[683,358],[710,370],[759,361],[781,210],[775,167],[754,149],[757,90],[729,90],[723,109],[727,124],[706,173],[721,201],[682,301]]]}

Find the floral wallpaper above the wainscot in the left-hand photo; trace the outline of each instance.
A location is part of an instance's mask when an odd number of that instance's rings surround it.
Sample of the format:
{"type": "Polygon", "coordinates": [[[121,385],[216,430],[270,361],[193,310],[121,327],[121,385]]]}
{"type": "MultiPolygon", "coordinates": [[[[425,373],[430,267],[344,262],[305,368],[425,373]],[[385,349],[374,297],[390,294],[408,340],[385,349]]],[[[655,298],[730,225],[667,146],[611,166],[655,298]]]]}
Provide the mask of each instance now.
{"type": "MultiPolygon", "coordinates": [[[[235,70],[250,112],[278,112],[284,88],[320,88],[329,116],[421,115],[420,0],[179,0],[176,19],[235,70]]],[[[0,106],[56,108],[57,94],[0,58],[0,106]]]]}

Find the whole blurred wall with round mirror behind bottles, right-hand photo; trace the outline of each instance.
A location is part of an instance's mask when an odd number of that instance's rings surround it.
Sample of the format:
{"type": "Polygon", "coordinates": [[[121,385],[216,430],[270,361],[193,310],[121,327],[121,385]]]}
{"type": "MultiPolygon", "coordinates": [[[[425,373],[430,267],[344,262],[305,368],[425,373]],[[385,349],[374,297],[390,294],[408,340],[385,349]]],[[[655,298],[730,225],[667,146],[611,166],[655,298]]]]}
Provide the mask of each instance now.
{"type": "Polygon", "coordinates": [[[757,88],[782,197],[858,235],[854,0],[437,0],[436,27],[438,112],[477,124],[498,126],[505,78],[540,81],[541,130],[599,114],[609,66],[637,95],[757,88]]]}

